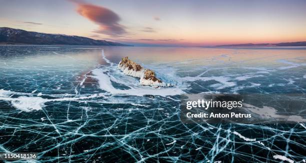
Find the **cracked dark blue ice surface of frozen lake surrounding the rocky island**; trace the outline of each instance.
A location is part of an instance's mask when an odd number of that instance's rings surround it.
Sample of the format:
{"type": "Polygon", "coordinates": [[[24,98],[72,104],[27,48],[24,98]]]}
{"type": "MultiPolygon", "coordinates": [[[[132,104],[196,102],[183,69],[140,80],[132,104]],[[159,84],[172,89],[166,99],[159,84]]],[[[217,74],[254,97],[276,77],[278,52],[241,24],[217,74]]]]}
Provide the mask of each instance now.
{"type": "Polygon", "coordinates": [[[38,152],[41,162],[302,162],[305,123],[184,124],[179,94],[141,86],[116,63],[129,56],[185,93],[304,95],[305,53],[304,47],[1,45],[0,152],[38,152]]]}

